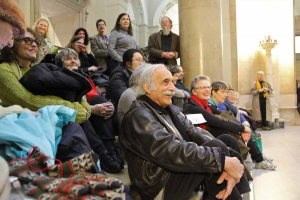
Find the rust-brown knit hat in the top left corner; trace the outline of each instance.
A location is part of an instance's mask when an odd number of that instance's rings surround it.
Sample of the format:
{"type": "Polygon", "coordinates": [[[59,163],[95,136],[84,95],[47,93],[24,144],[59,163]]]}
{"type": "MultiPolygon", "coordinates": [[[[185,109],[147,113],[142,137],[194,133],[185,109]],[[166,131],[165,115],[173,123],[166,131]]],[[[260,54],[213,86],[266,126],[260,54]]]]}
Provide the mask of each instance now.
{"type": "Polygon", "coordinates": [[[24,34],[26,29],[24,13],[14,0],[0,0],[0,19],[20,30],[15,36],[24,34]]]}

